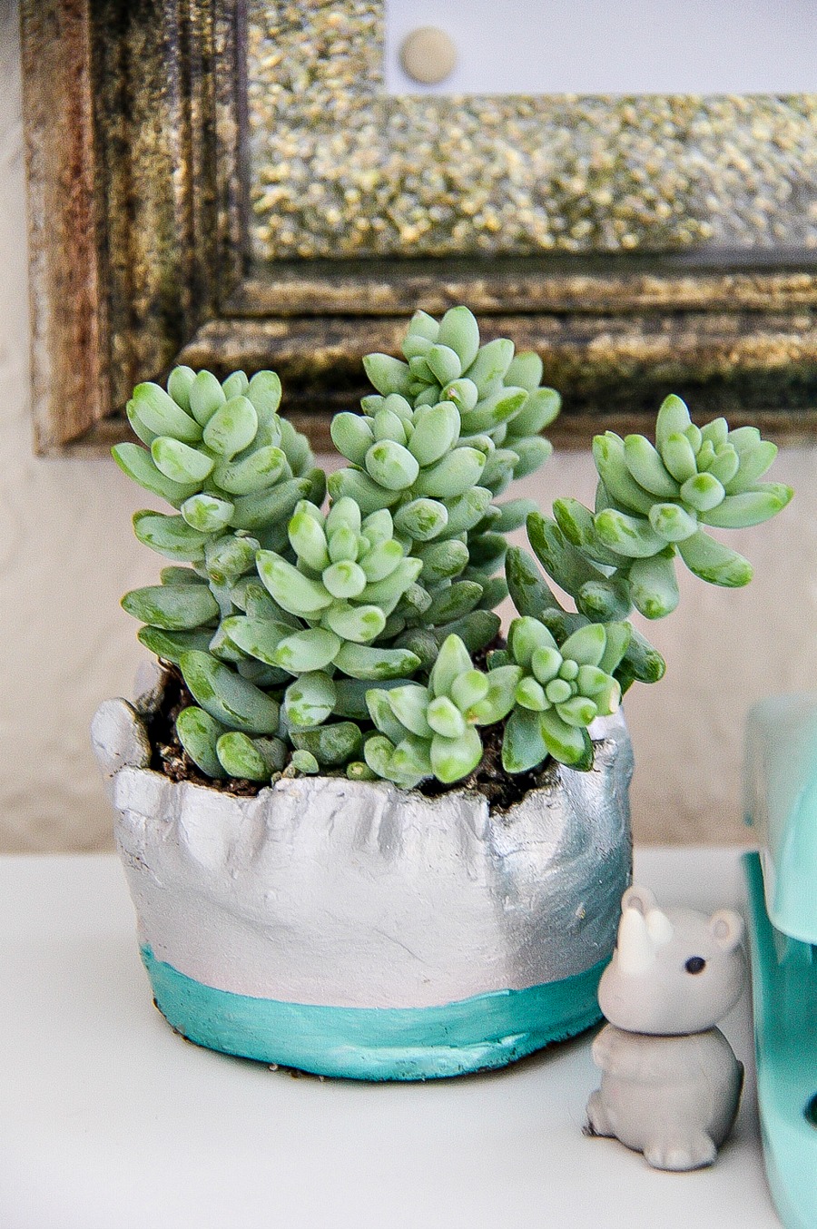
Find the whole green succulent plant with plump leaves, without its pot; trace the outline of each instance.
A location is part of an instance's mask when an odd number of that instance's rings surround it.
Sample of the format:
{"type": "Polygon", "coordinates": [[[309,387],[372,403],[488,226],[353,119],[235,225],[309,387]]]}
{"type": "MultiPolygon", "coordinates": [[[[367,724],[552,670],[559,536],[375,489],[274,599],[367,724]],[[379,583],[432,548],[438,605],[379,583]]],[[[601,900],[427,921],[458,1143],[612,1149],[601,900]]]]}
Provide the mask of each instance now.
{"type": "Polygon", "coordinates": [[[702,526],[753,524],[790,498],[758,483],[773,445],[722,419],[699,430],[668,398],[657,447],[596,439],[595,511],[496,503],[550,451],[539,431],[559,397],[541,387],[541,360],[502,338],[480,345],[464,307],[418,312],[403,355],[365,359],[376,392],[335,415],[349,465],[328,482],[279,417],[272,371],[220,382],[177,367],[167,390],[134,391],[144,446],[114,456],[174,514],[134,517],[170,565],[123,605],[184,678],[176,729],[209,778],[452,784],[479,768],[488,726],[507,773],[548,757],[590,768],[593,720],[663,673],[627,622],[633,606],[673,607],[677,553],[704,579],[745,584],[746,560],[702,526]],[[506,547],[523,524],[536,560],[506,547]],[[494,607],[509,591],[518,617],[502,646],[494,607]]]}

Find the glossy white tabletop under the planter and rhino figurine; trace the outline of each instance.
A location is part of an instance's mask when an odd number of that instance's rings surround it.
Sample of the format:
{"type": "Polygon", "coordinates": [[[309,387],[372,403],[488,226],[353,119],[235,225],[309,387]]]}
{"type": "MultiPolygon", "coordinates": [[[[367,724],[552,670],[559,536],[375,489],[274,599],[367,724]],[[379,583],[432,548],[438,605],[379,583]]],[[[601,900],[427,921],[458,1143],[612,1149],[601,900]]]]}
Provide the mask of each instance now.
{"type": "MultiPolygon", "coordinates": [[[[662,905],[741,907],[733,850],[641,850],[662,905]]],[[[295,1075],[176,1036],[113,857],[0,859],[1,1229],[774,1229],[748,994],[716,1165],[582,1134],[592,1034],[428,1084],[295,1075]]]]}

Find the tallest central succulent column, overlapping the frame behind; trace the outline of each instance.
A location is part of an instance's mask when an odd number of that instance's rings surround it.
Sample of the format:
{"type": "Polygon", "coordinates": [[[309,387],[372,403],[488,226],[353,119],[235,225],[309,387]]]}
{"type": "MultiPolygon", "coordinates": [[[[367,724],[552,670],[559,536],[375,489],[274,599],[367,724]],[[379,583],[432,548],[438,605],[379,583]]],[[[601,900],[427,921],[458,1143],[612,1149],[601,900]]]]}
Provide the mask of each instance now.
{"type": "MultiPolygon", "coordinates": [[[[515,356],[505,338],[480,347],[467,307],[452,307],[439,322],[416,312],[403,353],[405,363],[387,354],[364,359],[377,393],[364,397],[362,414],[333,420],[332,439],[351,465],[329,477],[329,493],[354,499],[364,514],[388,508],[407,552],[423,560],[415,607],[398,611],[410,628],[464,618],[506,596],[494,576],[505,535],[536,505],[493,500],[550,455],[539,433],[560,398],[539,387],[538,355],[515,356]],[[461,584],[450,592],[455,580],[461,584]]],[[[472,649],[495,634],[478,616],[452,630],[472,649]]]]}

